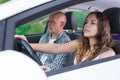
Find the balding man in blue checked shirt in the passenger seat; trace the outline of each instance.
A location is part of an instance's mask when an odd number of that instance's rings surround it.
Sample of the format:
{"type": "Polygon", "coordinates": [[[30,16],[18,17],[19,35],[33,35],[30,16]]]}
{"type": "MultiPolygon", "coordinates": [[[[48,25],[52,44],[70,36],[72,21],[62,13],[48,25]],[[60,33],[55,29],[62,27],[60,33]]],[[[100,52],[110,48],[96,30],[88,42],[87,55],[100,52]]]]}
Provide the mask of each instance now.
{"type": "MultiPolygon", "coordinates": [[[[66,43],[70,38],[63,32],[63,27],[66,24],[66,16],[62,12],[56,12],[50,15],[48,20],[48,32],[44,34],[39,43],[66,43]]],[[[37,52],[39,59],[44,66],[41,66],[45,71],[56,70],[61,68],[65,62],[67,54],[44,54],[37,52]]]]}

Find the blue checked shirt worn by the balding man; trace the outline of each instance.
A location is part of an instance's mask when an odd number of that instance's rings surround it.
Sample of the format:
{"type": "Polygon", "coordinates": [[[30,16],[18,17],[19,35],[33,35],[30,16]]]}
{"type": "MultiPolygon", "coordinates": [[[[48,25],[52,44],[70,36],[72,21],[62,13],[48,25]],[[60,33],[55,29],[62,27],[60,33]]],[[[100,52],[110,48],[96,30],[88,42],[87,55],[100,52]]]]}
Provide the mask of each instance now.
{"type": "MultiPolygon", "coordinates": [[[[51,38],[51,33],[47,32],[44,34],[41,38],[39,43],[48,43],[51,38]]],[[[67,43],[71,41],[69,36],[62,32],[57,39],[54,41],[54,43],[67,43]]],[[[65,60],[68,54],[62,53],[62,54],[47,54],[42,52],[37,52],[37,55],[39,56],[39,59],[44,59],[44,65],[50,67],[51,70],[56,70],[58,68],[62,68],[63,64],[65,64],[65,60]]]]}

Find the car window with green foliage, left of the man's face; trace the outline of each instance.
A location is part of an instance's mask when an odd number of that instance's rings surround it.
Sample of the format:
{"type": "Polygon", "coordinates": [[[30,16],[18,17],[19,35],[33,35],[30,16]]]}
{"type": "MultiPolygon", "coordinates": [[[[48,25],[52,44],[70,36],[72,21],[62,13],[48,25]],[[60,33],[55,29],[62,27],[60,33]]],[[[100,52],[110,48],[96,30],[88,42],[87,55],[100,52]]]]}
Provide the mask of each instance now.
{"type": "Polygon", "coordinates": [[[48,16],[45,16],[43,18],[39,18],[32,22],[18,26],[15,30],[15,34],[32,35],[32,34],[44,33],[47,21],[48,21],[48,16]]]}

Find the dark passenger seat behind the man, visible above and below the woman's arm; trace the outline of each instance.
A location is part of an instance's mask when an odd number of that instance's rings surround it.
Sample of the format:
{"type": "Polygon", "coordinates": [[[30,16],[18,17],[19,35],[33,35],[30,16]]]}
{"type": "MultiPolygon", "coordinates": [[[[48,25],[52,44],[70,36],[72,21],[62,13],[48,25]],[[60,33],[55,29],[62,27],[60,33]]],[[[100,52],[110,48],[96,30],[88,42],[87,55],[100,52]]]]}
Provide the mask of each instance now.
{"type": "MultiPolygon", "coordinates": [[[[81,34],[77,33],[77,25],[75,21],[75,16],[73,12],[65,13],[67,22],[65,24],[64,30],[71,40],[80,38],[81,34]]],[[[75,53],[70,53],[66,57],[65,64],[63,67],[71,66],[74,64],[75,53]]]]}

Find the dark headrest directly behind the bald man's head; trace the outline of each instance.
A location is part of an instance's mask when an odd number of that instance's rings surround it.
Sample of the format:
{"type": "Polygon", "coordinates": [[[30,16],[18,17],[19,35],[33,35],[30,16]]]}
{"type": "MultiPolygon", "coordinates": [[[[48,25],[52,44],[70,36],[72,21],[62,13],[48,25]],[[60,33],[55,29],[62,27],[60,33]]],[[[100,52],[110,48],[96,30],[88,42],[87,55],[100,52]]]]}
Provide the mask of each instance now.
{"type": "Polygon", "coordinates": [[[66,24],[64,29],[77,30],[77,25],[73,12],[67,12],[65,13],[65,15],[66,15],[66,24]]]}

